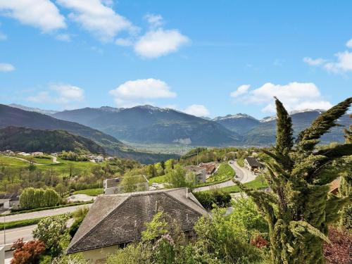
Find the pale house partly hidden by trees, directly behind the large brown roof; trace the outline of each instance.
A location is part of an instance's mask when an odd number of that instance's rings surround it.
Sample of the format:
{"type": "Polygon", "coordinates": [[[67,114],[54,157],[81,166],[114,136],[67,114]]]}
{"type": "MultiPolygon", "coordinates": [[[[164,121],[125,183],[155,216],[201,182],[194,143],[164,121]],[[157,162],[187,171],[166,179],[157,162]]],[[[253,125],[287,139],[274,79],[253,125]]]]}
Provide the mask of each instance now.
{"type": "MultiPolygon", "coordinates": [[[[137,189],[148,191],[149,190],[149,182],[148,179],[144,175],[136,175],[136,176],[129,176],[129,177],[139,177],[139,182],[133,184],[137,189]]],[[[103,189],[104,194],[122,194],[125,191],[125,185],[120,185],[123,178],[112,178],[103,180],[103,189]]]]}

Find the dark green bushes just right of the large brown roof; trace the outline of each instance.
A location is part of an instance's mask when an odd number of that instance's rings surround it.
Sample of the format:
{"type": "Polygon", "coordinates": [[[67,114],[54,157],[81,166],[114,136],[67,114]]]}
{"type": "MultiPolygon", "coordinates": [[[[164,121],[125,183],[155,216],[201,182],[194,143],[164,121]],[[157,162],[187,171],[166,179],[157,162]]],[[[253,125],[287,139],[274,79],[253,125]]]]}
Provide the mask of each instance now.
{"type": "Polygon", "coordinates": [[[220,189],[213,189],[210,191],[197,191],[194,192],[194,196],[201,203],[201,205],[207,210],[216,207],[227,207],[230,205],[231,196],[225,191],[220,189]]]}

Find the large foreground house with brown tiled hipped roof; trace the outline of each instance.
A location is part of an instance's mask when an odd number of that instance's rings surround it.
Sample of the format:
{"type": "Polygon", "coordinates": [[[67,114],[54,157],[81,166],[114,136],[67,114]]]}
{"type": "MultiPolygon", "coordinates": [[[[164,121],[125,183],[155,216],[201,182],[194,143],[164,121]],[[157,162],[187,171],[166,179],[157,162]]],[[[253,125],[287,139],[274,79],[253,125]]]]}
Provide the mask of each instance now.
{"type": "Polygon", "coordinates": [[[104,263],[106,257],[141,239],[146,222],[163,211],[191,236],[196,221],[208,215],[187,188],[100,195],[68,246],[67,253],[82,253],[88,263],[104,263]]]}

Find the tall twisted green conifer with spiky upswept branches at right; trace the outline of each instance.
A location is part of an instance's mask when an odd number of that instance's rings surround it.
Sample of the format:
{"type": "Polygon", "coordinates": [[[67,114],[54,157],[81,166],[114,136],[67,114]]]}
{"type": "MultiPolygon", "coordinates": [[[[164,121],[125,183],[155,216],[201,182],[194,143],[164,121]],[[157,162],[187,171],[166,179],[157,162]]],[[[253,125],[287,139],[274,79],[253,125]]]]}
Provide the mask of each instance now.
{"type": "Polygon", "coordinates": [[[322,246],[327,241],[327,225],[339,217],[339,210],[351,197],[329,194],[333,163],[352,154],[352,144],[317,150],[322,134],[337,126],[335,121],[351,106],[352,98],[330,108],[298,134],[296,145],[292,121],[276,99],[277,138],[265,178],[272,189],[266,193],[244,187],[265,215],[270,231],[270,252],[274,264],[325,263],[322,246]]]}

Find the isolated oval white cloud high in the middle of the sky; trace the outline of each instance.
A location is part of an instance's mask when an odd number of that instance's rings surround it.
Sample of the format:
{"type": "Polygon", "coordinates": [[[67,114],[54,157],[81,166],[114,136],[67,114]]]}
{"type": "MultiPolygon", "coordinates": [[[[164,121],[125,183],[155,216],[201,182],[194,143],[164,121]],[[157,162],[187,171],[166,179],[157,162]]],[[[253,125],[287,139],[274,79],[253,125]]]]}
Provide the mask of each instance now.
{"type": "Polygon", "coordinates": [[[134,45],[134,51],[144,58],[157,58],[177,51],[189,42],[189,38],[178,30],[151,30],[140,37],[134,45]]]}

